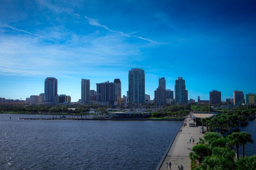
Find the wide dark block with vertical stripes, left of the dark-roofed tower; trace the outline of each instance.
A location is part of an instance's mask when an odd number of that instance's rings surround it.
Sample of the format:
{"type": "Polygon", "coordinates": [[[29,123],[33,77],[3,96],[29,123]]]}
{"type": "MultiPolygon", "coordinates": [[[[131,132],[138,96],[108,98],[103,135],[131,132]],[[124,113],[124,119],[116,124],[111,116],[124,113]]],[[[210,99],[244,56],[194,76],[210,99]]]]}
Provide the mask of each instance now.
{"type": "Polygon", "coordinates": [[[113,82],[96,83],[97,104],[117,105],[117,84],[113,82]]]}

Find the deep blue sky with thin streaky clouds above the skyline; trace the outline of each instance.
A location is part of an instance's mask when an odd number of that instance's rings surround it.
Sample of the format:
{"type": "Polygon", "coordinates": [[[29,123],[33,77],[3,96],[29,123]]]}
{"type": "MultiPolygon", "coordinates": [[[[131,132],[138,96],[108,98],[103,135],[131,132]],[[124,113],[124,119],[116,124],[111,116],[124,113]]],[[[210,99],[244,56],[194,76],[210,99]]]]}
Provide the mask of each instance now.
{"type": "MultiPolygon", "coordinates": [[[[81,78],[96,83],[145,70],[145,93],[158,78],[173,90],[183,77],[191,98],[234,90],[256,93],[256,2],[247,0],[1,0],[0,97],[44,92],[81,98],[81,78]]],[[[226,96],[227,95],[227,96],[226,96]]]]}

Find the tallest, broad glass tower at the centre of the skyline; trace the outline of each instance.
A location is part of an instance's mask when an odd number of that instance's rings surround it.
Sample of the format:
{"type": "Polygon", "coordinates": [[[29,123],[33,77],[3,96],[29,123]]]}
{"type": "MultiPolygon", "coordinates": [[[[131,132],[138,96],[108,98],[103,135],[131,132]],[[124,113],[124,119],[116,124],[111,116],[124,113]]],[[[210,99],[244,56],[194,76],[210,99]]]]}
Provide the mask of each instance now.
{"type": "Polygon", "coordinates": [[[128,74],[129,103],[145,103],[145,71],[132,68],[128,74]]]}

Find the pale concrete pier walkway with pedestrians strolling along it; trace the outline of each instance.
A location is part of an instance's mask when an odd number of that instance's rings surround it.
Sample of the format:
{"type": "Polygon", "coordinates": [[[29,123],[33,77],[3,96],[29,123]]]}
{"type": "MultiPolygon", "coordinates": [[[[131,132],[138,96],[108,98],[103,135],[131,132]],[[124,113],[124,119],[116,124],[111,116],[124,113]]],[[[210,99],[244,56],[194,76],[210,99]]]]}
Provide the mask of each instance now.
{"type": "MultiPolygon", "coordinates": [[[[178,133],[177,136],[174,139],[174,142],[164,159],[162,166],[160,170],[166,169],[166,162],[172,163],[172,169],[176,170],[178,165],[179,167],[182,165],[184,170],[190,170],[191,160],[189,159],[189,153],[192,150],[192,147],[196,145],[196,142],[199,141],[199,137],[202,138],[204,134],[199,133],[202,126],[198,127],[189,127],[188,120],[191,119],[189,116],[186,118],[187,126],[182,127],[182,133],[178,133]],[[195,139],[195,143],[193,144],[193,139],[191,139],[191,143],[189,142],[189,139],[193,136],[195,139]]],[[[169,170],[169,165],[168,165],[169,170]]]]}

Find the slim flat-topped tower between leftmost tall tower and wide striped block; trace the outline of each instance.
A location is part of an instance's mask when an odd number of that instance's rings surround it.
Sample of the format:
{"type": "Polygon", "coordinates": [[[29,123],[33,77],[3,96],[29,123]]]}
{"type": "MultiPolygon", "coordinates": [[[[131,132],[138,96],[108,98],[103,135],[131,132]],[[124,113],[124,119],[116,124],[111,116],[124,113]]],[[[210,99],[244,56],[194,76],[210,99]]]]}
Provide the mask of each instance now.
{"type": "Polygon", "coordinates": [[[82,79],[81,80],[81,104],[90,103],[90,80],[82,79]]]}

